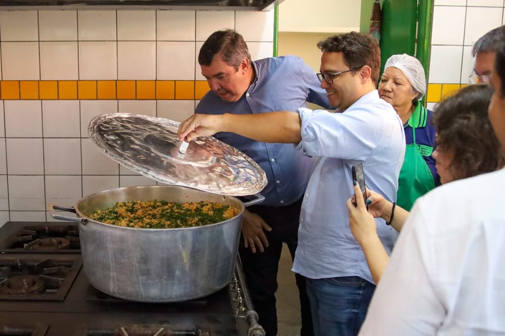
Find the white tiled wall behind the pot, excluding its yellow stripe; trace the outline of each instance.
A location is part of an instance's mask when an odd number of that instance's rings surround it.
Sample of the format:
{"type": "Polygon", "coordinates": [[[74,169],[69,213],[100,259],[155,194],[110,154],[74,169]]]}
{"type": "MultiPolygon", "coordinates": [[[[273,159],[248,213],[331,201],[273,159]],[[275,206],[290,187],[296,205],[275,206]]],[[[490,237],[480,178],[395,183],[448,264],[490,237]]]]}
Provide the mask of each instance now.
{"type": "MultiPolygon", "coordinates": [[[[203,80],[203,41],[236,28],[252,58],[270,57],[273,11],[0,11],[1,80],[203,80]]],[[[87,138],[89,121],[129,112],[182,121],[196,100],[0,101],[0,226],[53,220],[48,203],[73,205],[119,186],[155,185],[87,138]]],[[[68,214],[70,215],[70,214],[68,214]]]]}

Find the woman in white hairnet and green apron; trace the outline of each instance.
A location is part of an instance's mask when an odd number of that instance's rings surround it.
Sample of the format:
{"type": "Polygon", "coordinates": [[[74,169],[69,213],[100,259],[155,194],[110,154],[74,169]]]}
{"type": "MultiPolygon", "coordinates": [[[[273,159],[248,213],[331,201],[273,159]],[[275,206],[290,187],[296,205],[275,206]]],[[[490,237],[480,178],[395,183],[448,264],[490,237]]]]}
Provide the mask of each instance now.
{"type": "Polygon", "coordinates": [[[408,54],[392,55],[384,66],[379,96],[390,103],[403,123],[407,148],[398,178],[396,204],[410,211],[417,198],[439,183],[432,156],[435,128],[433,112],[422,106],[426,77],[421,63],[408,54]]]}

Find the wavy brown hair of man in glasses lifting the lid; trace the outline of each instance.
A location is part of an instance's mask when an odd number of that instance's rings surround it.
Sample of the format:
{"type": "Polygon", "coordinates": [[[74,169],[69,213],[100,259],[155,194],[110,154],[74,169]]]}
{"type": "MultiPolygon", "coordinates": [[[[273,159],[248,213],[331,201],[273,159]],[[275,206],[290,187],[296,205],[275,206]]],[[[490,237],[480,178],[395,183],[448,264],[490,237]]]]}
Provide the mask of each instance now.
{"type": "Polygon", "coordinates": [[[375,38],[368,34],[351,31],[347,34],[328,37],[317,44],[323,52],[342,52],[345,64],[350,68],[369,66],[370,76],[377,85],[380,71],[380,47],[375,38]]]}

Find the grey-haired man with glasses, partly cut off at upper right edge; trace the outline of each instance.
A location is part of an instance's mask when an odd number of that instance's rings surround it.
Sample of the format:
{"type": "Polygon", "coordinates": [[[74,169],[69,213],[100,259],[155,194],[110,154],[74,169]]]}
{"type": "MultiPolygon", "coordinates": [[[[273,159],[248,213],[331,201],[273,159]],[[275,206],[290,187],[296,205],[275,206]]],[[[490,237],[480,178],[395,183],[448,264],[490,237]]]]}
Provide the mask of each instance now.
{"type": "Polygon", "coordinates": [[[475,42],[472,56],[475,57],[473,73],[469,76],[470,84],[489,83],[489,76],[494,66],[496,45],[505,36],[505,26],[494,28],[475,42]]]}

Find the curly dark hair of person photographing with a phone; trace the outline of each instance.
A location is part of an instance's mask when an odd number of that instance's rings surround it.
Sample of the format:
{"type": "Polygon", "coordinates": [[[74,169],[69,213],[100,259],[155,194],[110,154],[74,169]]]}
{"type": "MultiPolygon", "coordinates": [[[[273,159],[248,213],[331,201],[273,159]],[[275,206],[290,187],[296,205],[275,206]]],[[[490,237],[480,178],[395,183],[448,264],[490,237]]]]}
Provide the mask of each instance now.
{"type": "Polygon", "coordinates": [[[437,148],[453,155],[449,170],[455,180],[493,172],[505,163],[487,115],[492,94],[487,84],[471,85],[436,106],[437,148]]]}

